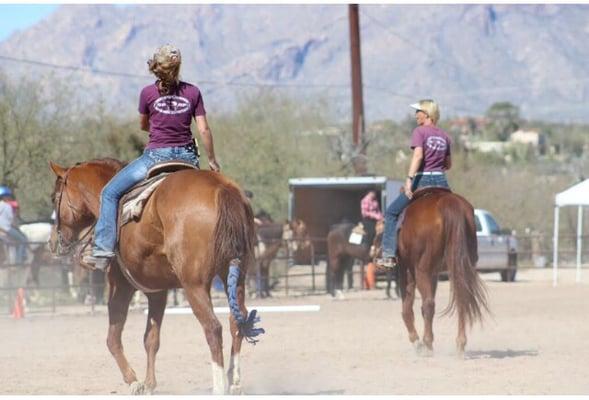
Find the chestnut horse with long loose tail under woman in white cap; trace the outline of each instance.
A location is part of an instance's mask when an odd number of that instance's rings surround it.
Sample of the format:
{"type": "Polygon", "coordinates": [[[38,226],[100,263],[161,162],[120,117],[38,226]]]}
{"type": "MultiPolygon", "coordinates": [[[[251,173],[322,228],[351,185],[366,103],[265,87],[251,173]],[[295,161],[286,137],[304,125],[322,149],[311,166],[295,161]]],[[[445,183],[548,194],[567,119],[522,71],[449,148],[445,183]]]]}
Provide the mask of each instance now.
{"type": "Polygon", "coordinates": [[[438,273],[448,271],[451,297],[444,314],[458,311],[459,355],[466,345],[465,326],[482,321],[489,311],[486,289],[475,266],[477,237],[472,205],[463,197],[441,188],[426,188],[414,194],[406,208],[399,232],[399,281],[403,298],[403,321],[409,340],[420,353],[433,352],[433,317],[438,273]],[[415,330],[415,288],[422,299],[425,322],[423,343],[415,330]]]}

